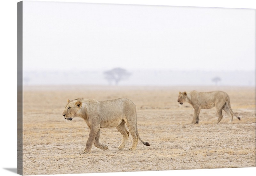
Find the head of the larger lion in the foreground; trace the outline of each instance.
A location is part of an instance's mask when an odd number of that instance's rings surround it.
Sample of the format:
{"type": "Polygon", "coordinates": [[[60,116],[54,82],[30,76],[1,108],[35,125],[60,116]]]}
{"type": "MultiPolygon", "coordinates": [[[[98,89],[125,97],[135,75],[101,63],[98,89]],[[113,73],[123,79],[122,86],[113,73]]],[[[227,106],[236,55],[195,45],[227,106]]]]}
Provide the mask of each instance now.
{"type": "Polygon", "coordinates": [[[69,100],[68,99],[68,103],[65,106],[65,109],[62,113],[62,115],[64,116],[64,118],[67,121],[72,121],[72,119],[74,118],[74,116],[76,116],[77,111],[80,109],[80,107],[82,106],[82,102],[79,101],[80,99],[75,99],[75,100],[69,100]]]}

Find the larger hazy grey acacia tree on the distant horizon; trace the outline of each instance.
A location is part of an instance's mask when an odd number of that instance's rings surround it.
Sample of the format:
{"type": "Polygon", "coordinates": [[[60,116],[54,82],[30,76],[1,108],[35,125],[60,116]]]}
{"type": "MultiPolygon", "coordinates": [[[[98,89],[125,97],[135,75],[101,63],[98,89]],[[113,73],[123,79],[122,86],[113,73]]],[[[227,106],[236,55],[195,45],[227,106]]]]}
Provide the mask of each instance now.
{"type": "Polygon", "coordinates": [[[122,68],[114,68],[112,70],[108,70],[104,72],[105,79],[108,80],[109,84],[112,81],[117,85],[121,80],[127,79],[131,73],[122,68]]]}

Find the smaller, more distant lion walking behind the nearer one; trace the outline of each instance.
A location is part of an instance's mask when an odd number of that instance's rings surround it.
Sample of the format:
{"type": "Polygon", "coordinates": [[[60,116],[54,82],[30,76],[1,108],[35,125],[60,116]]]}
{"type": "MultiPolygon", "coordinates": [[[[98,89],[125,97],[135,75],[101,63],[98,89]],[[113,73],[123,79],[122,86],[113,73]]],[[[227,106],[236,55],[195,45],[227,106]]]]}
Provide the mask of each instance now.
{"type": "MultiPolygon", "coordinates": [[[[222,110],[230,116],[231,123],[233,121],[233,115],[235,115],[231,109],[229,96],[226,92],[179,92],[178,103],[182,105],[184,102],[188,102],[194,108],[193,120],[191,122],[193,124],[199,122],[199,113],[201,109],[210,109],[214,106],[219,115],[217,123],[219,123],[223,117],[222,110]]],[[[240,120],[240,117],[236,116],[236,118],[240,120]]]]}

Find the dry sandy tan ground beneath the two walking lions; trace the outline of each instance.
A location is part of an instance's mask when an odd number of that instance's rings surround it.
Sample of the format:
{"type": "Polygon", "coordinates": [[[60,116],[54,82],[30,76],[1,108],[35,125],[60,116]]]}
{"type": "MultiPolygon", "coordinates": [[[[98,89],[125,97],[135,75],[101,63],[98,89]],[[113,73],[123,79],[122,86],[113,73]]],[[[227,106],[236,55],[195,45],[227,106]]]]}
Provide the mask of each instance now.
{"type": "Polygon", "coordinates": [[[24,87],[24,175],[157,171],[180,169],[255,167],[255,88],[253,87],[24,87]],[[239,116],[233,123],[215,108],[200,113],[190,124],[193,108],[178,105],[178,92],[222,90],[239,116]],[[101,129],[100,141],[108,150],[92,147],[84,154],[89,128],[80,118],[70,123],[62,116],[67,99],[131,99],[137,106],[140,137],[137,150],[118,150],[122,135],[116,128],[101,129]]]}

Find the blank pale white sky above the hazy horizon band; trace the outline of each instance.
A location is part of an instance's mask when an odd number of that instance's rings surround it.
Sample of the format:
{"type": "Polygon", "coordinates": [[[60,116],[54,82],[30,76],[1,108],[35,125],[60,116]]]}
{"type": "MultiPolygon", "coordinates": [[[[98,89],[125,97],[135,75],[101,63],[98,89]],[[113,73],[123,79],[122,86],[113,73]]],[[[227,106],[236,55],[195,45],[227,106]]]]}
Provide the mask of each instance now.
{"type": "Polygon", "coordinates": [[[23,70],[255,70],[255,10],[23,1],[23,70]]]}

